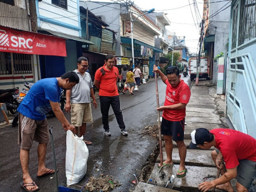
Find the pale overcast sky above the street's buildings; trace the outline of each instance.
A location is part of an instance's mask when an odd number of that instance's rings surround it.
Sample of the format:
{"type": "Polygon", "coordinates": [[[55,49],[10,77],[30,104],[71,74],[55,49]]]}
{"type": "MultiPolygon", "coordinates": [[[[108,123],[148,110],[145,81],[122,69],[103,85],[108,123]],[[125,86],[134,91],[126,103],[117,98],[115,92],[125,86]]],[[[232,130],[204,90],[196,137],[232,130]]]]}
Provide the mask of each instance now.
{"type": "MultiPolygon", "coordinates": [[[[117,0],[96,1],[114,2],[117,0]]],[[[177,36],[185,36],[185,43],[189,47],[190,53],[198,52],[199,23],[202,21],[203,0],[134,0],[134,4],[142,10],[155,8],[155,12],[167,13],[166,16],[171,22],[171,26],[166,27],[167,30],[171,33],[174,32],[177,36]],[[197,6],[194,6],[194,2],[197,2],[197,6]],[[197,11],[197,15],[195,11],[197,11]]]]}

